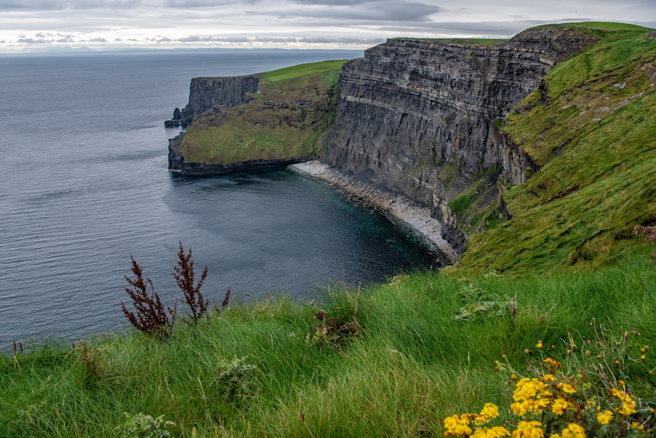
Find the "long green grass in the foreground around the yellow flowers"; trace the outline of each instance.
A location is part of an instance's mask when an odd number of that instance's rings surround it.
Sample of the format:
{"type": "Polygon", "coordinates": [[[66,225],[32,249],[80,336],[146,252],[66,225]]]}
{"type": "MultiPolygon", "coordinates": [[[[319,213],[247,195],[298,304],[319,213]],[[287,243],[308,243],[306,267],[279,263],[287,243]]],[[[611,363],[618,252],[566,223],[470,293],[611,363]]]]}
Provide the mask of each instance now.
{"type": "MultiPolygon", "coordinates": [[[[85,379],[70,344],[35,344],[19,357],[20,370],[11,357],[0,359],[0,435],[113,437],[123,412],[146,412],[175,421],[173,435],[184,437],[194,426],[198,436],[310,437],[306,425],[315,437],[441,436],[441,420],[453,412],[504,405],[505,376],[491,370],[502,351],[522,367],[523,349],[537,340],[561,348],[567,330],[586,334],[592,317],[638,328],[641,344],[656,341],[656,272],[644,258],[596,273],[472,283],[517,292],[515,329],[504,317],[455,321],[463,283],[433,272],[363,290],[365,334],[341,348],[308,346],[310,309],[285,299],[233,304],[195,330],[179,327],[169,341],[135,332],[98,338],[97,378],[85,379]],[[241,356],[258,367],[253,395],[217,397],[218,361],[241,356]]],[[[318,307],[350,318],[354,290],[345,292],[333,289],[318,307]]],[[[653,365],[651,356],[634,365],[634,391],[653,392],[653,365]]]]}

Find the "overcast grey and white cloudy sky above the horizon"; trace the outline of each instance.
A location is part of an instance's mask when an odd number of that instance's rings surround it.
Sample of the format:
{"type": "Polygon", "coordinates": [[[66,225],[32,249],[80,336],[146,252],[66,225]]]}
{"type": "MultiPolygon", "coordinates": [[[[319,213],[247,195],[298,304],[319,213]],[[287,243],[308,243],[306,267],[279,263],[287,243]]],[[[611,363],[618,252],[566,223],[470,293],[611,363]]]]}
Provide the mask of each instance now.
{"type": "Polygon", "coordinates": [[[367,49],[390,37],[508,38],[579,21],[656,28],[656,0],[0,0],[0,52],[367,49]]]}

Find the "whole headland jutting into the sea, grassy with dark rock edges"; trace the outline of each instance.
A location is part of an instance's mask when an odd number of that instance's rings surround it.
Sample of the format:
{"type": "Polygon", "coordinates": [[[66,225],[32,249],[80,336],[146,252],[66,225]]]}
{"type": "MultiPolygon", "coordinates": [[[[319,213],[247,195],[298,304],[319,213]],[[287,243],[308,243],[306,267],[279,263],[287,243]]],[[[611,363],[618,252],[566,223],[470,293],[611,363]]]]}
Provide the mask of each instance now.
{"type": "Polygon", "coordinates": [[[190,97],[187,108],[202,109],[217,101],[229,104],[195,115],[186,134],[169,141],[169,169],[221,174],[317,157],[323,134],[335,118],[337,78],[344,62],[301,64],[253,75],[258,87],[244,91],[244,97],[243,90],[230,91],[226,84],[237,87],[239,81],[248,82],[248,77],[233,78],[233,82],[228,81],[231,78],[192,81],[195,97],[190,97]],[[212,88],[203,89],[203,84],[221,87],[213,96],[212,88]]]}

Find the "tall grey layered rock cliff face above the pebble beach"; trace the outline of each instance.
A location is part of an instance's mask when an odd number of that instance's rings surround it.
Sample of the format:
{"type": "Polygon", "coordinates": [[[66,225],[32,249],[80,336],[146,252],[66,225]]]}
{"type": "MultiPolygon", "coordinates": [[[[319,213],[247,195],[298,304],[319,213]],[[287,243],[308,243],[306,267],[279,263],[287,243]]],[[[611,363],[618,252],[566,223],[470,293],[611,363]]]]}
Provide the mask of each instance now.
{"type": "Polygon", "coordinates": [[[447,203],[480,175],[487,184],[472,196],[489,204],[499,172],[521,184],[537,171],[499,127],[554,64],[593,41],[559,28],[527,30],[498,47],[389,39],[344,64],[325,160],[434,207],[443,237],[462,251],[465,228],[447,203]]]}

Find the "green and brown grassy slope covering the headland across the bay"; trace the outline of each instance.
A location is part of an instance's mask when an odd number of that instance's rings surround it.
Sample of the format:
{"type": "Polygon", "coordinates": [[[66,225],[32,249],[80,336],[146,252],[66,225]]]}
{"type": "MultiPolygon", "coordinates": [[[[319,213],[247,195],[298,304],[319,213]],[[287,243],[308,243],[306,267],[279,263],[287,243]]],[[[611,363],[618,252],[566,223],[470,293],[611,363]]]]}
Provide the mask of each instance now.
{"type": "Polygon", "coordinates": [[[216,115],[197,115],[180,150],[192,162],[234,163],[320,153],[335,117],[337,77],[346,60],[262,73],[261,94],[216,115]]]}

